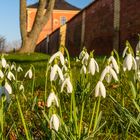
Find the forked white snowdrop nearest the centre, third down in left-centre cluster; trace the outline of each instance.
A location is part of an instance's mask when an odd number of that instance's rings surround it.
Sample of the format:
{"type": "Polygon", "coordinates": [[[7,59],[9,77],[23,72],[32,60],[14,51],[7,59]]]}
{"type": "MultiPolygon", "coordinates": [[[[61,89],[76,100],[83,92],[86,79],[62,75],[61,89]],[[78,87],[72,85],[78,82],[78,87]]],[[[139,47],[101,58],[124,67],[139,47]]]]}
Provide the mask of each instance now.
{"type": "Polygon", "coordinates": [[[61,92],[63,92],[64,87],[67,88],[67,93],[72,93],[73,86],[72,86],[72,84],[71,84],[71,82],[70,82],[70,78],[69,78],[69,77],[66,78],[66,79],[64,80],[64,82],[62,83],[61,92]]]}

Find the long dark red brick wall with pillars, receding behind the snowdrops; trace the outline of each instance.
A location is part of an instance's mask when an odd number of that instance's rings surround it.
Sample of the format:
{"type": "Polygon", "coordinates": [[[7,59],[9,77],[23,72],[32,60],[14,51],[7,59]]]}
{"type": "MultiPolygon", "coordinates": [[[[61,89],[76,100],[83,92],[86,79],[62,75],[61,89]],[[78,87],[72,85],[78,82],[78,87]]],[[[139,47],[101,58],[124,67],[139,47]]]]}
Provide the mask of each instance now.
{"type": "MultiPolygon", "coordinates": [[[[77,56],[83,46],[97,55],[108,55],[113,49],[122,53],[126,40],[135,48],[140,33],[139,7],[140,0],[94,0],[66,23],[65,46],[70,55],[77,56]]],[[[36,51],[56,52],[61,36],[58,28],[36,51]]]]}

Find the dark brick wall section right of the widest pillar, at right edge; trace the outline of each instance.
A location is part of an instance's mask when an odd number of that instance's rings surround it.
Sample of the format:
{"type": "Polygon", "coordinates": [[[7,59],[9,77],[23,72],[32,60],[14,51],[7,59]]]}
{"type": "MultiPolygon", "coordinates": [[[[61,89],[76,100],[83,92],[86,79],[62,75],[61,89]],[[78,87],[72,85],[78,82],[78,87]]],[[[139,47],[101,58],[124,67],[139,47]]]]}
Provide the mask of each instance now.
{"type": "Polygon", "coordinates": [[[119,51],[123,51],[126,40],[129,40],[135,48],[138,33],[140,33],[140,0],[121,0],[119,51]]]}

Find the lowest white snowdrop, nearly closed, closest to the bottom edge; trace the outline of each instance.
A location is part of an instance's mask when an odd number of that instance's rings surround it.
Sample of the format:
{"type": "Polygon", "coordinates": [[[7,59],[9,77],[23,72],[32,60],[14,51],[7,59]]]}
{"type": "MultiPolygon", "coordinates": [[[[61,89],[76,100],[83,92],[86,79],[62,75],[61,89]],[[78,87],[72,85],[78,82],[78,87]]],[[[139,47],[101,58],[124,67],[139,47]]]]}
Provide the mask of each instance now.
{"type": "Polygon", "coordinates": [[[59,125],[60,125],[60,122],[57,115],[53,114],[50,119],[50,129],[55,129],[55,131],[58,131],[59,125]]]}

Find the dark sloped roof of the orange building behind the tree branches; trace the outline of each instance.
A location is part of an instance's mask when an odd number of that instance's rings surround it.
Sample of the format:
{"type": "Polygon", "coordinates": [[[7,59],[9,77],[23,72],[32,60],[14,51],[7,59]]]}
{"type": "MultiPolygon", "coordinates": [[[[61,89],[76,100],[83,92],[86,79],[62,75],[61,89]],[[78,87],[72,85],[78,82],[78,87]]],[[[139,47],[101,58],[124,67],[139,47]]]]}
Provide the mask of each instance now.
{"type": "MultiPolygon", "coordinates": [[[[37,8],[38,7],[38,2],[32,5],[29,5],[28,8],[37,8]]],[[[46,7],[47,8],[47,4],[46,7]]],[[[72,4],[66,2],[65,0],[55,0],[55,5],[54,5],[55,10],[80,10],[80,8],[73,6],[72,4]]]]}

